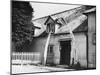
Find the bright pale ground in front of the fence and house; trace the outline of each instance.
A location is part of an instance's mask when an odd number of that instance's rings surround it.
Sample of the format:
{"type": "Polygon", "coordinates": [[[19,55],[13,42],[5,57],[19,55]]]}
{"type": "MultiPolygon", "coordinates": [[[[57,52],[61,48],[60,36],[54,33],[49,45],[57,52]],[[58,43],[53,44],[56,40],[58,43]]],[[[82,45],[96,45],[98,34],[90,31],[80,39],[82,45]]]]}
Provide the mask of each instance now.
{"type": "Polygon", "coordinates": [[[36,72],[52,72],[52,71],[68,71],[72,69],[64,69],[48,66],[35,65],[12,65],[12,74],[17,73],[36,73],[36,72]]]}

